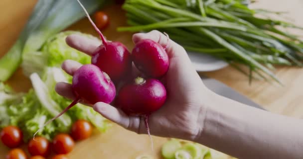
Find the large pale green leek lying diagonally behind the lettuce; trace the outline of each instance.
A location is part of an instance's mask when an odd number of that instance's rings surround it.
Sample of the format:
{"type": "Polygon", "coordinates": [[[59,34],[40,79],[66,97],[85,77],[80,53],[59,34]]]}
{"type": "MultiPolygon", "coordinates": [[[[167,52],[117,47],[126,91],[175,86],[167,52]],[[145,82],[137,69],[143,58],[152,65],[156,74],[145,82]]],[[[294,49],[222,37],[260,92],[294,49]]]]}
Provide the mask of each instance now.
{"type": "MultiPolygon", "coordinates": [[[[104,2],[105,0],[85,0],[83,4],[92,13],[104,2]]],[[[76,0],[39,0],[19,39],[0,59],[0,81],[9,79],[25,56],[32,55],[32,52],[39,55],[39,50],[49,37],[84,16],[76,0]]]]}

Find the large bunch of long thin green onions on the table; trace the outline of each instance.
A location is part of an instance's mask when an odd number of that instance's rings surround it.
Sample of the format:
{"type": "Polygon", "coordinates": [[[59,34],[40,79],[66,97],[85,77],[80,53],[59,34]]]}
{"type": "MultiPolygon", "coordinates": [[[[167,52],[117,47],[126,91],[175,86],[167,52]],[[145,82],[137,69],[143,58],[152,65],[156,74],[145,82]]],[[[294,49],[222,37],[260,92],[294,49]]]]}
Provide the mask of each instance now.
{"type": "Polygon", "coordinates": [[[247,0],[126,0],[129,27],[119,31],[157,29],[187,51],[209,54],[245,73],[250,79],[277,80],[274,65],[303,66],[303,41],[287,33],[291,23],[268,18],[279,14],[251,9],[247,0]],[[236,64],[250,70],[243,71],[236,64]],[[254,74],[253,74],[254,73],[254,74]]]}

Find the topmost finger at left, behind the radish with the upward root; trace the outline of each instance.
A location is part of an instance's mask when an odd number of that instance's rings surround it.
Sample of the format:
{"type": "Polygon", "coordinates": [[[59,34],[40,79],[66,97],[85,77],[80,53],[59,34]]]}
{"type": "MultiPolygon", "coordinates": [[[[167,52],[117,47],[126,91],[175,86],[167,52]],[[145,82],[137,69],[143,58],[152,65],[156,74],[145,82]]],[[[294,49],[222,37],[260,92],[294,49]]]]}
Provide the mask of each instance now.
{"type": "Polygon", "coordinates": [[[101,41],[98,41],[97,39],[91,39],[89,37],[77,34],[69,35],[65,40],[67,45],[70,47],[84,52],[90,56],[95,52],[97,47],[101,45],[101,41]]]}

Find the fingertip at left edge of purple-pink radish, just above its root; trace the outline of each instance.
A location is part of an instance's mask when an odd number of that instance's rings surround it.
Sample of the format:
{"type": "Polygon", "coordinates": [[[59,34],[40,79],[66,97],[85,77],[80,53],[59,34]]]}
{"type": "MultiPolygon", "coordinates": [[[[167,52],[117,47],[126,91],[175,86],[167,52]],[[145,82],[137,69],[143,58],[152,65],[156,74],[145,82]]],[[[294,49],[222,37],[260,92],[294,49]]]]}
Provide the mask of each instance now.
{"type": "Polygon", "coordinates": [[[55,86],[55,90],[59,95],[62,95],[68,99],[75,99],[76,95],[73,93],[72,85],[65,82],[58,82],[55,86]]]}

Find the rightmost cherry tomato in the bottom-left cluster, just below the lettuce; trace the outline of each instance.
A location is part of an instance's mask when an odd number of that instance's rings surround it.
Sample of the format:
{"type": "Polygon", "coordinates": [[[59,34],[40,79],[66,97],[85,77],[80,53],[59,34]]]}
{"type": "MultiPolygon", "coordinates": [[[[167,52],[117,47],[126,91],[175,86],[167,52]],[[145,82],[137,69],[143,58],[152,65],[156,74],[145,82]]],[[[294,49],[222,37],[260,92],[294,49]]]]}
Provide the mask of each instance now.
{"type": "Polygon", "coordinates": [[[86,120],[78,120],[72,126],[71,136],[74,140],[84,140],[92,135],[92,125],[86,120]]]}

